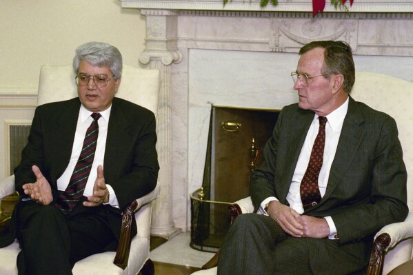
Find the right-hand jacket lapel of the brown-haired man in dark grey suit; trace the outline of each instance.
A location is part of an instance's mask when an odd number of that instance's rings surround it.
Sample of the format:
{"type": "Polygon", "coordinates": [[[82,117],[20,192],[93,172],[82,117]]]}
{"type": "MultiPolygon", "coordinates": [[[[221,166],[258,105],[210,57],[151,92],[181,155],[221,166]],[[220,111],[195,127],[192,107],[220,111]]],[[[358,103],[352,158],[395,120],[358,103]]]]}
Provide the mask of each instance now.
{"type": "Polygon", "coordinates": [[[334,161],[330,169],[327,189],[321,203],[328,199],[350,167],[365,134],[364,117],[356,101],[350,97],[334,161]]]}

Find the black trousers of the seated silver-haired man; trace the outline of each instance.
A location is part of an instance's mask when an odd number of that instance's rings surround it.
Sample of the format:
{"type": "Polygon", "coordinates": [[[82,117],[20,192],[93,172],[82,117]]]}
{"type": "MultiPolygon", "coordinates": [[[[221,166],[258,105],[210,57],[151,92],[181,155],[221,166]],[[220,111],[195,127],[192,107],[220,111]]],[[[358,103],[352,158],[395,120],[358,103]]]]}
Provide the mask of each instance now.
{"type": "Polygon", "coordinates": [[[26,201],[21,203],[18,218],[19,275],[72,274],[77,261],[105,252],[110,243],[117,242],[103,206],[83,207],[80,202],[64,215],[54,205],[26,201]]]}

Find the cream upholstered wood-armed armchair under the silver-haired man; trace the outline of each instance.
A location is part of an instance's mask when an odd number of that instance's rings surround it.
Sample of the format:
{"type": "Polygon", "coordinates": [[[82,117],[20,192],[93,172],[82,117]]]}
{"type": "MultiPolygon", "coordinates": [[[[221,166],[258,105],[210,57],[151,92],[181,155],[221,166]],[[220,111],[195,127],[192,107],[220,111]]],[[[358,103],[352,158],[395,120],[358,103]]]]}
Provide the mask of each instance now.
{"type": "MultiPolygon", "coordinates": [[[[143,70],[123,65],[121,85],[116,96],[137,103],[157,116],[160,74],[158,70],[143,70]]],[[[43,66],[39,79],[37,105],[63,101],[77,96],[72,65],[43,66]]],[[[0,181],[0,199],[14,193],[14,176],[0,181]]],[[[128,274],[139,271],[143,275],[154,274],[154,265],[149,258],[151,202],[159,195],[159,184],[150,194],[132,201],[123,210],[121,239],[117,252],[94,254],[79,261],[73,274],[128,274]],[[134,214],[137,236],[130,239],[130,228],[134,214]]],[[[19,253],[17,241],[0,249],[0,274],[17,274],[16,258],[19,253]]]]}

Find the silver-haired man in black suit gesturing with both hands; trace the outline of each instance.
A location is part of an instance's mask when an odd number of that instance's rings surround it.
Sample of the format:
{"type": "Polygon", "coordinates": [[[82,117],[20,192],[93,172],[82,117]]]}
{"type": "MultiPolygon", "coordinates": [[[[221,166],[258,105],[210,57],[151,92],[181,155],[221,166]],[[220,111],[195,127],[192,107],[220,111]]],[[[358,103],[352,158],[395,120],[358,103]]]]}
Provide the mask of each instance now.
{"type": "Polygon", "coordinates": [[[121,210],[157,184],[154,114],[114,98],[121,84],[119,50],[85,43],[76,50],[73,68],[79,97],[36,108],[28,145],[14,170],[21,196],[12,218],[21,246],[19,274],[71,274],[82,258],[115,250],[121,210]],[[99,134],[86,168],[79,161],[84,147],[91,146],[85,146],[85,135],[93,123],[99,134]],[[81,191],[69,200],[65,196],[77,170],[83,187],[72,187],[81,191]]]}

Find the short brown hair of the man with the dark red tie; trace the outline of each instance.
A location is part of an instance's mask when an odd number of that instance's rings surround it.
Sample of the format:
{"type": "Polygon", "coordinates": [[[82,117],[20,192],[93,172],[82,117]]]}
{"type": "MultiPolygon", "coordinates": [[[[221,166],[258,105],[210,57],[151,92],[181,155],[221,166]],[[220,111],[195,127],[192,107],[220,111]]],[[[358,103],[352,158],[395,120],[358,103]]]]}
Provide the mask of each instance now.
{"type": "Polygon", "coordinates": [[[321,73],[325,75],[343,74],[343,89],[350,93],[356,79],[356,69],[352,48],[344,41],[313,41],[303,46],[299,54],[305,54],[314,48],[324,49],[324,65],[321,73]]]}

